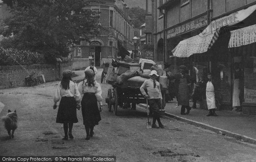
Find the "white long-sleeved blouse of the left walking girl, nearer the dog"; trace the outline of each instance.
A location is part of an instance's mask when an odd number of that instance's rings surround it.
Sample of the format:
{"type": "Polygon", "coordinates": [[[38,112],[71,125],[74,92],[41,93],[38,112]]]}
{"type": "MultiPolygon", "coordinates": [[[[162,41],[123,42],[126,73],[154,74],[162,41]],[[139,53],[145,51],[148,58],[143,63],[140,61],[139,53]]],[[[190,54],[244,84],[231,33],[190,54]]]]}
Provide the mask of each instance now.
{"type": "Polygon", "coordinates": [[[61,97],[75,97],[76,102],[81,101],[81,94],[78,91],[77,85],[76,83],[74,83],[73,81],[70,80],[70,84],[69,84],[69,89],[64,89],[61,86],[61,82],[58,84],[58,87],[55,91],[55,95],[54,95],[54,102],[58,102],[61,97]]]}

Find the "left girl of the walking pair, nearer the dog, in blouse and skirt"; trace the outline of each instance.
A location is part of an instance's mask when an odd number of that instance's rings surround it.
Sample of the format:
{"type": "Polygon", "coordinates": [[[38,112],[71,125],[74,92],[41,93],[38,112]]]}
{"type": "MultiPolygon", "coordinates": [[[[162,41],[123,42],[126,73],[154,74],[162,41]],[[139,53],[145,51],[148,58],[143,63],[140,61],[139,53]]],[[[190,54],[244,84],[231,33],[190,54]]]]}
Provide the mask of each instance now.
{"type": "Polygon", "coordinates": [[[70,139],[74,138],[72,128],[73,123],[78,122],[76,108],[79,109],[77,105],[81,101],[81,94],[78,91],[76,83],[71,80],[72,71],[66,70],[62,75],[62,80],[55,91],[53,109],[57,108],[57,102],[61,100],[56,122],[63,123],[65,134],[63,140],[67,140],[67,135],[69,135],[70,139]]]}

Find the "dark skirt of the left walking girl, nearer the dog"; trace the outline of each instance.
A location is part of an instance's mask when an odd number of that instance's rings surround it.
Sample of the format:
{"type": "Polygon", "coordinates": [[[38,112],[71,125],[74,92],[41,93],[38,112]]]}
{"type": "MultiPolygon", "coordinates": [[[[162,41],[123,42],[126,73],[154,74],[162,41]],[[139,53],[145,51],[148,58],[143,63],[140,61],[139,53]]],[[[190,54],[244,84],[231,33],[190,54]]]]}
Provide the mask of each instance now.
{"type": "Polygon", "coordinates": [[[76,99],[74,97],[61,97],[56,118],[57,123],[77,123],[76,99]]]}

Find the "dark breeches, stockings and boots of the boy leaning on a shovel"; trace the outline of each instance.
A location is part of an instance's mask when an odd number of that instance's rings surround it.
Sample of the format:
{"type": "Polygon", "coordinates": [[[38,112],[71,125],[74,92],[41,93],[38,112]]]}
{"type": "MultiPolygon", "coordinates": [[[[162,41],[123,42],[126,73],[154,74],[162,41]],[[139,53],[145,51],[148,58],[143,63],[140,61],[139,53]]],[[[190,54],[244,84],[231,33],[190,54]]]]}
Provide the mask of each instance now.
{"type": "Polygon", "coordinates": [[[153,122],[152,125],[156,124],[156,120],[158,125],[162,125],[160,121],[159,108],[161,107],[161,99],[148,99],[149,109],[153,112],[153,122]]]}

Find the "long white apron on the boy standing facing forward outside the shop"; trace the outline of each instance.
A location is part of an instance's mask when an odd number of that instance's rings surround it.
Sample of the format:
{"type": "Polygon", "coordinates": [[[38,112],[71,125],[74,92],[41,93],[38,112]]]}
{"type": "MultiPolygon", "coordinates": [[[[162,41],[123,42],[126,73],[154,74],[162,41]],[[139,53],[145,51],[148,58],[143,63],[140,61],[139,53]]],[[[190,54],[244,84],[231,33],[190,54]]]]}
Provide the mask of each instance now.
{"type": "Polygon", "coordinates": [[[216,108],[214,86],[212,85],[212,82],[207,82],[206,85],[206,102],[208,110],[216,108]]]}

